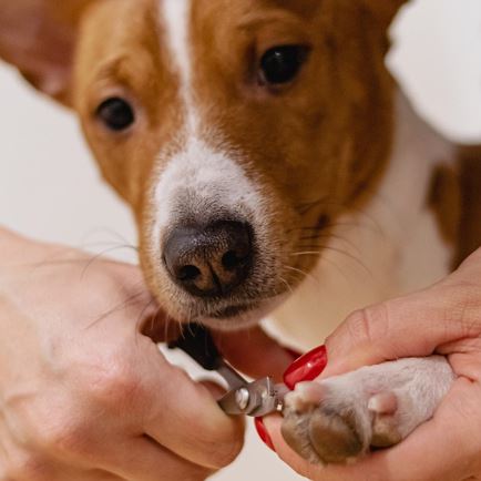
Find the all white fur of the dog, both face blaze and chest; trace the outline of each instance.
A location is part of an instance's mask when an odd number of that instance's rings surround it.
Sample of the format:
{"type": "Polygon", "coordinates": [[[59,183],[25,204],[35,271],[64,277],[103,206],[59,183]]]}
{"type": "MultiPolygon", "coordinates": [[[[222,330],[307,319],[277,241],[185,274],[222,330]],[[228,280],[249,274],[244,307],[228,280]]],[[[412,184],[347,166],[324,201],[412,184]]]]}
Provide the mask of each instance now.
{"type": "MultiPolygon", "coordinates": [[[[247,177],[238,153],[212,146],[212,137],[215,145],[222,142],[213,135],[215,125],[205,129],[196,105],[190,49],[191,1],[162,2],[162,22],[181,79],[180,99],[186,115],[170,153],[160,153],[152,237],[152,250],[158,256],[162,233],[178,221],[175,203],[182,190],[191,193],[194,212],[196,204],[204,209],[209,205],[231,209],[253,223],[259,246],[272,240],[266,229],[268,199],[247,177]]],[[[448,273],[450,248],[427,207],[427,195],[433,167],[449,162],[450,149],[399,94],[392,155],[376,196],[362,213],[352,212],[340,219],[330,242],[332,249],[323,253],[313,275],[275,315],[290,339],[297,339],[303,347],[317,345],[350,311],[423,287],[448,273]]]]}

